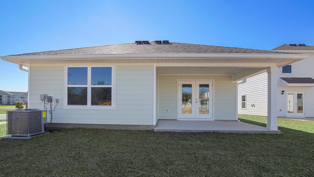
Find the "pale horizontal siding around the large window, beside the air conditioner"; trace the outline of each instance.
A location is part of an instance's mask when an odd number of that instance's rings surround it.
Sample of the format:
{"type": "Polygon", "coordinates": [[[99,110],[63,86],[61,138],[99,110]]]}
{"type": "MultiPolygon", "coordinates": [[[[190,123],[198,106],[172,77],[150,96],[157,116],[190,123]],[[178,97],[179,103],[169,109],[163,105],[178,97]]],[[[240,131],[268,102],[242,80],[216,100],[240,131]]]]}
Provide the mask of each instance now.
{"type": "Polygon", "coordinates": [[[63,109],[64,66],[30,66],[29,69],[30,108],[43,109],[40,94],[54,94],[53,100],[60,99],[52,122],[153,125],[153,65],[116,66],[115,110],[63,109]]]}

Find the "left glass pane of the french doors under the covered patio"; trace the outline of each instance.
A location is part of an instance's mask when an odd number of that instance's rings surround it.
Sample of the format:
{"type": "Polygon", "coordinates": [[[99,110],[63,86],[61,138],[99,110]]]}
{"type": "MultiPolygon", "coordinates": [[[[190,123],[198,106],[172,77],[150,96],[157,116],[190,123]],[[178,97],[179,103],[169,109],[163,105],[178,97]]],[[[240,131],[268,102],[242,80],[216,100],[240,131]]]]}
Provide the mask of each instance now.
{"type": "Polygon", "coordinates": [[[182,114],[192,114],[192,84],[182,85],[182,114]]]}

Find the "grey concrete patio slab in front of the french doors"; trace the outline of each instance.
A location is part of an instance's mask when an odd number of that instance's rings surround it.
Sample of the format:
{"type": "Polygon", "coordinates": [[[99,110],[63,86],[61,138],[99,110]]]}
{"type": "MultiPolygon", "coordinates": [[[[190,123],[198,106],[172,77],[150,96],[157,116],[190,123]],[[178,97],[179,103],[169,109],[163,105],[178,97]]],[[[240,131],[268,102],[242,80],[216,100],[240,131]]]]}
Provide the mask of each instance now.
{"type": "Polygon", "coordinates": [[[269,133],[280,134],[280,130],[268,130],[266,127],[240,121],[223,120],[164,120],[159,119],[155,132],[221,132],[221,133],[269,133]]]}

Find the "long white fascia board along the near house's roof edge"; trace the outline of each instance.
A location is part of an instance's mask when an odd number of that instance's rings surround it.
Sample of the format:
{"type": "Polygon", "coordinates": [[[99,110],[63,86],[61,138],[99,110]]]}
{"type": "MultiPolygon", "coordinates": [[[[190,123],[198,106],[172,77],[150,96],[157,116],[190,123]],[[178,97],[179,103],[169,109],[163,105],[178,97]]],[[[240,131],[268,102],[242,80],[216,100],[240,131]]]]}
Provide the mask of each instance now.
{"type": "Polygon", "coordinates": [[[305,59],[308,55],[303,54],[77,54],[77,55],[22,55],[2,56],[6,61],[24,59],[152,59],[152,58],[225,58],[225,59],[305,59]]]}

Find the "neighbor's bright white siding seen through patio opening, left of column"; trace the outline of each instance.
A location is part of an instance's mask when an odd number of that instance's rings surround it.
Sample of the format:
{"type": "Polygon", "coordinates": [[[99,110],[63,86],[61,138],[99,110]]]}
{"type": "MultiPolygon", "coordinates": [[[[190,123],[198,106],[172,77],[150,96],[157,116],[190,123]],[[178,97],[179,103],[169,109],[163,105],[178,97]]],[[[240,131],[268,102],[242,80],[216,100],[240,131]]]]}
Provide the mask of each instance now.
{"type": "Polygon", "coordinates": [[[267,116],[267,73],[248,78],[238,85],[238,114],[267,116]],[[242,108],[242,95],[246,95],[246,108],[242,108]]]}

